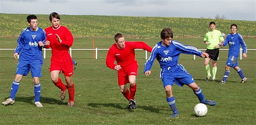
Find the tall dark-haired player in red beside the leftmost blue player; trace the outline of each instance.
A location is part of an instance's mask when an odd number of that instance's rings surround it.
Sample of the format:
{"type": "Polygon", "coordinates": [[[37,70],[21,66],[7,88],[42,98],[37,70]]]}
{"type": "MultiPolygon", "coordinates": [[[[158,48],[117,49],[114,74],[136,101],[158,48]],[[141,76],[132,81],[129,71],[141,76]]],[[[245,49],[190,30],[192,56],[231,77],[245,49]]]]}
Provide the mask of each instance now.
{"type": "Polygon", "coordinates": [[[61,89],[61,100],[65,99],[66,89],[69,91],[69,106],[74,105],[74,83],[72,82],[73,63],[69,54],[69,47],[73,44],[73,35],[63,25],[59,25],[61,17],[58,13],[53,12],[49,16],[52,23],[51,27],[45,28],[47,41],[44,47],[52,49],[51,57],[51,79],[52,82],[61,89]],[[59,78],[59,73],[65,75],[66,85],[59,78]]]}

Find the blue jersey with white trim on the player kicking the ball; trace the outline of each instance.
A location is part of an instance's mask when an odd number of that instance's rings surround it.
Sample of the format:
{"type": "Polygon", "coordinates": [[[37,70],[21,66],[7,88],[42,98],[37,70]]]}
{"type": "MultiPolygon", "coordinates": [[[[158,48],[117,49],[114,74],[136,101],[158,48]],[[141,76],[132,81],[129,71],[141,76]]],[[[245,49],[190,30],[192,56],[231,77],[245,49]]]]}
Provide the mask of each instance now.
{"type": "MultiPolygon", "coordinates": [[[[162,41],[161,41],[162,42],[162,41]]],[[[180,42],[172,41],[169,46],[162,46],[158,42],[152,49],[151,56],[145,63],[145,71],[150,71],[155,58],[157,58],[161,69],[168,69],[176,67],[180,53],[194,54],[201,56],[202,52],[193,46],[183,45],[180,42]]]]}

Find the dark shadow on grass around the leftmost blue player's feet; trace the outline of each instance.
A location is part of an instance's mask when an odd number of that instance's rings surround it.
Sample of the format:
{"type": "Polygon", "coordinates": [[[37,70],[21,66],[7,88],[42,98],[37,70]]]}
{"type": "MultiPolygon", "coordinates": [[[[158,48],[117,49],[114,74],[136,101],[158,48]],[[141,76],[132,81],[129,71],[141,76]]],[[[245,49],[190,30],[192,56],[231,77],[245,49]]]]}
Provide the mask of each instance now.
{"type": "MultiPolygon", "coordinates": [[[[8,97],[9,98],[9,97],[8,97]]],[[[7,98],[5,98],[6,100],[7,98]]],[[[34,105],[34,96],[31,97],[15,97],[15,102],[26,102],[28,104],[34,105]]],[[[55,98],[49,97],[40,97],[40,102],[42,104],[58,104],[58,105],[66,105],[66,102],[61,100],[56,100],[55,98]]]]}

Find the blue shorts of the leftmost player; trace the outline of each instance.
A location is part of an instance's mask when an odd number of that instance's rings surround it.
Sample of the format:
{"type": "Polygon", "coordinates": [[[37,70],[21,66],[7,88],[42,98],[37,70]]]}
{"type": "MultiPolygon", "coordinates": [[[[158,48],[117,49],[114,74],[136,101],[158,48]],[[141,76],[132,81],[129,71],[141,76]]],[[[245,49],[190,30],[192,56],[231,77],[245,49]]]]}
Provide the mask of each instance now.
{"type": "Polygon", "coordinates": [[[26,76],[29,73],[29,71],[31,71],[32,78],[41,77],[42,76],[41,67],[42,67],[41,63],[27,64],[27,63],[19,62],[17,65],[16,74],[26,76]]]}

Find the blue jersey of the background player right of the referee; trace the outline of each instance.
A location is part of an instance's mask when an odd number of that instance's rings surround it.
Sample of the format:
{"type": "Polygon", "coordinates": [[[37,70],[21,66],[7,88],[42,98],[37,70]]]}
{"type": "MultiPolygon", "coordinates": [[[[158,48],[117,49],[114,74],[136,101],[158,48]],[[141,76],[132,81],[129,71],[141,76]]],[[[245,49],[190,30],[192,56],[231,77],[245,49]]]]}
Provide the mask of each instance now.
{"type": "Polygon", "coordinates": [[[240,45],[243,47],[243,53],[247,53],[246,43],[244,43],[242,36],[238,33],[234,35],[228,34],[223,42],[223,46],[226,46],[227,44],[229,44],[229,56],[238,57],[240,45]]]}

